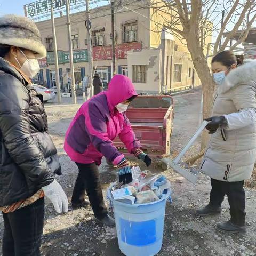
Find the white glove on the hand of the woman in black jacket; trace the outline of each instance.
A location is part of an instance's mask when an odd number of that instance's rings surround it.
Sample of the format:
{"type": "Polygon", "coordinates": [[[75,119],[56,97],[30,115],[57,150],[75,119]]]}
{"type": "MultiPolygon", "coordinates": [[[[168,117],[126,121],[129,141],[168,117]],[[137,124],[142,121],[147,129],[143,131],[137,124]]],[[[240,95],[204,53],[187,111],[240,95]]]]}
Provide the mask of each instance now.
{"type": "Polygon", "coordinates": [[[54,209],[58,213],[68,212],[68,198],[57,180],[54,180],[51,184],[42,187],[42,189],[45,196],[50,199],[54,209]]]}

